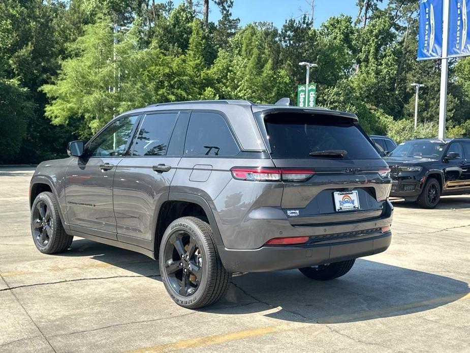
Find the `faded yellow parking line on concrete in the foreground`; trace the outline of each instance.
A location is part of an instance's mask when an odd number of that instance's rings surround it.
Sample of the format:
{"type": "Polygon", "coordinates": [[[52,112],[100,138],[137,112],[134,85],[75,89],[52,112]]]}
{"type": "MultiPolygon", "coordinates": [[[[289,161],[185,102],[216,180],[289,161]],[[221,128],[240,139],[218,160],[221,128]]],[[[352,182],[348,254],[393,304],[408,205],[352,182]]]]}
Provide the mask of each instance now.
{"type": "Polygon", "coordinates": [[[178,349],[203,347],[203,346],[208,346],[208,345],[213,345],[213,344],[236,341],[236,340],[240,340],[244,338],[259,337],[259,336],[269,335],[272,333],[286,332],[286,331],[291,331],[294,329],[305,328],[306,324],[313,325],[315,323],[324,323],[324,324],[325,323],[337,323],[337,322],[359,320],[361,318],[362,319],[374,318],[375,316],[382,317],[383,315],[386,315],[386,314],[392,314],[392,313],[397,313],[397,312],[401,312],[405,310],[416,309],[416,308],[425,307],[428,305],[456,302],[456,301],[461,301],[465,299],[470,299],[470,292],[461,293],[458,295],[451,295],[451,296],[446,296],[446,297],[422,300],[422,301],[412,302],[412,303],[407,303],[407,304],[400,304],[400,305],[395,305],[395,306],[391,306],[391,307],[384,308],[384,309],[364,310],[355,314],[326,316],[318,320],[312,320],[311,322],[303,322],[303,323],[293,322],[293,323],[283,324],[283,325],[273,325],[273,326],[262,327],[259,329],[250,329],[250,330],[243,330],[243,331],[237,331],[237,332],[226,333],[226,334],[198,337],[198,338],[193,338],[193,339],[188,339],[188,340],[173,342],[173,343],[167,343],[167,344],[162,344],[162,345],[153,346],[153,347],[130,350],[127,353],[161,353],[161,352],[168,352],[168,351],[173,351],[173,350],[178,350],[178,349]]]}

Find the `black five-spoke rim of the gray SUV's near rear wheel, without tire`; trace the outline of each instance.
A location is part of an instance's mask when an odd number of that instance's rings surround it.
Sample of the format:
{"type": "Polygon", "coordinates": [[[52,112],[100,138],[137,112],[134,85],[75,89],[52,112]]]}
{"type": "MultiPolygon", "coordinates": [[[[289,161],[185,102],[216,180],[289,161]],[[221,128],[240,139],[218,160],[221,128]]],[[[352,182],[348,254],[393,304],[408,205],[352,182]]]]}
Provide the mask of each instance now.
{"type": "Polygon", "coordinates": [[[184,230],[171,234],[165,246],[165,273],[175,292],[189,297],[199,287],[203,275],[202,254],[196,239],[184,230]]]}

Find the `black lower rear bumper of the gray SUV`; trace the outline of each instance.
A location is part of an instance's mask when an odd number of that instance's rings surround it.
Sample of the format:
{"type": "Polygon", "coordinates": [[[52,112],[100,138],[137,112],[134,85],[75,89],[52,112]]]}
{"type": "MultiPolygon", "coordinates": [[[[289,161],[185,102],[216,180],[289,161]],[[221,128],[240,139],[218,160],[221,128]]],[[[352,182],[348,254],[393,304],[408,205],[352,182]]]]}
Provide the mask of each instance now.
{"type": "Polygon", "coordinates": [[[391,231],[378,231],[369,232],[362,237],[359,234],[354,239],[321,241],[302,246],[263,246],[252,250],[234,250],[220,245],[217,248],[229,272],[266,272],[299,269],[377,254],[387,250],[391,239],[391,231]]]}

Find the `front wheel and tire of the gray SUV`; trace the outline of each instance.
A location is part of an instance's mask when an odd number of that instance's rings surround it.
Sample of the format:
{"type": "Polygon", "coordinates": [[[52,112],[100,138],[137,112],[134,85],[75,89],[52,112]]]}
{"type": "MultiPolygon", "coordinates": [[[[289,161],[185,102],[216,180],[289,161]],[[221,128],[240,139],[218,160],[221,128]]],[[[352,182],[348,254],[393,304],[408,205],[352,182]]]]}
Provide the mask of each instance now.
{"type": "Polygon", "coordinates": [[[73,237],[67,235],[60,220],[55,197],[51,192],[40,193],[31,208],[31,233],[33,241],[43,254],[67,250],[73,237]]]}

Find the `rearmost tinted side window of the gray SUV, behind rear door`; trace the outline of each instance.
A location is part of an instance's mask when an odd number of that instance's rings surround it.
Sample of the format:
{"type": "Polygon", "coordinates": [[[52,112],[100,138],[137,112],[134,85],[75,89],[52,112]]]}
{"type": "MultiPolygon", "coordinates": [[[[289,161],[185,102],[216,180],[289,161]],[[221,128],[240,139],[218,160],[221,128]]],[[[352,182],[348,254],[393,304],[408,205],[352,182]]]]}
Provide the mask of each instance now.
{"type": "Polygon", "coordinates": [[[193,112],[187,128],[185,156],[235,156],[238,145],[222,115],[193,112]]]}

